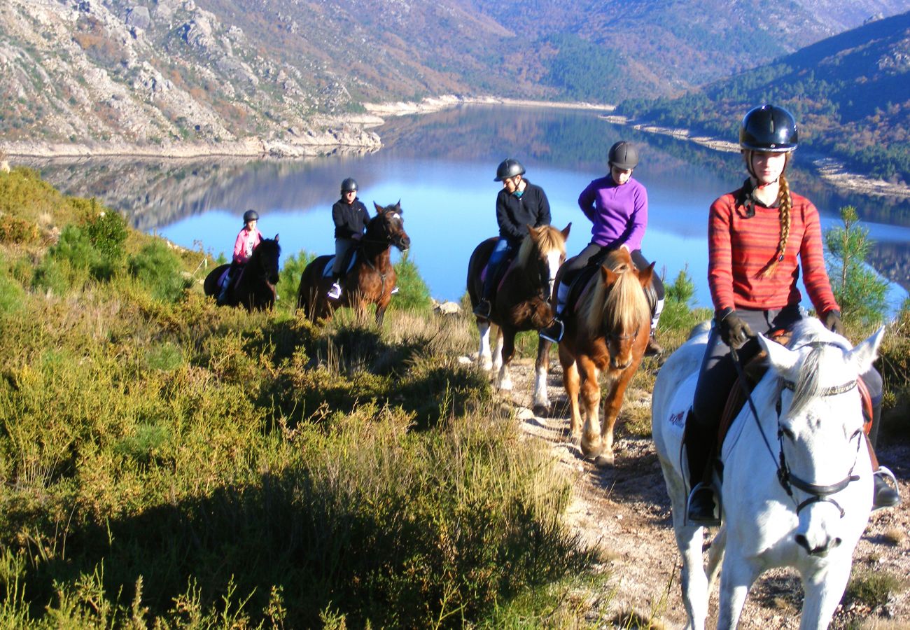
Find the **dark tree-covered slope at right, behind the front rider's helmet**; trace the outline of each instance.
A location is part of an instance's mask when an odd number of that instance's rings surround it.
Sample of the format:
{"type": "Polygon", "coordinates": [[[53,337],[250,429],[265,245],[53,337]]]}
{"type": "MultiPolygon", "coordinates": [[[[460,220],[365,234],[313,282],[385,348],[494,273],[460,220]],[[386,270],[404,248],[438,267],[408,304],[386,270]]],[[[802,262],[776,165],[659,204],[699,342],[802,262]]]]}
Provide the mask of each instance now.
{"type": "Polygon", "coordinates": [[[733,139],[743,113],[788,108],[802,150],[910,181],[910,12],[829,37],[682,97],[629,99],[617,113],[733,139]]]}

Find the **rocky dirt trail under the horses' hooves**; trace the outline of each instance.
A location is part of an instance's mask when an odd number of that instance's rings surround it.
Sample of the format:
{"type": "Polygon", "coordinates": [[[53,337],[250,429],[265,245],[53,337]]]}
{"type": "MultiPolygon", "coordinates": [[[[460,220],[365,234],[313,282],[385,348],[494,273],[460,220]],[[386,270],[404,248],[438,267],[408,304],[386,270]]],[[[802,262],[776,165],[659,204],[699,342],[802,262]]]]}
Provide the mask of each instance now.
{"type": "MultiPolygon", "coordinates": [[[[522,430],[550,443],[553,456],[575,480],[575,499],[568,513],[571,527],[589,544],[600,545],[609,559],[612,593],[581,598],[590,608],[591,620],[602,615],[614,624],[607,627],[637,627],[628,622],[630,614],[637,614],[658,621],[656,627],[682,627],[682,562],[660,464],[650,440],[632,438],[622,431],[625,413],[636,406],[650,407],[650,392],[626,392],[617,432],[616,467],[601,470],[584,461],[580,450],[565,437],[569,412],[558,363],[551,364],[552,404],[547,416],[531,412],[533,362],[517,360],[513,366],[515,389],[507,400],[516,406],[522,430]]],[[[839,606],[833,628],[910,628],[910,444],[882,445],[879,458],[898,477],[904,503],[872,515],[854,553],[854,574],[891,574],[902,585],[885,605],[854,602],[839,606]]],[[[768,572],[753,586],[740,627],[797,628],[801,603],[802,587],[793,571],[768,572]]],[[[715,587],[711,615],[716,615],[716,605],[715,587]]],[[[715,622],[713,618],[709,626],[715,622]]]]}

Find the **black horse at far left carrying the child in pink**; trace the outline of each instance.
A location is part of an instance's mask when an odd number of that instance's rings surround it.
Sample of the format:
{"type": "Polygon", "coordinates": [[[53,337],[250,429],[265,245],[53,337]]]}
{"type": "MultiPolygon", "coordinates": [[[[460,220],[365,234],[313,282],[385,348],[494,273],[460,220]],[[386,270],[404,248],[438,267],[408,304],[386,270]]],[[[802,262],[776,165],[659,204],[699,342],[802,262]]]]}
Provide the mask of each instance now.
{"type": "MultiPolygon", "coordinates": [[[[247,310],[271,309],[275,305],[275,285],[278,284],[278,258],[281,247],[278,245],[278,234],[275,239],[263,239],[253,249],[243,269],[238,269],[238,278],[231,281],[227,288],[225,304],[238,306],[242,304],[247,310]]],[[[218,282],[229,265],[218,265],[212,269],[203,282],[206,295],[217,296],[220,291],[218,282]]]]}

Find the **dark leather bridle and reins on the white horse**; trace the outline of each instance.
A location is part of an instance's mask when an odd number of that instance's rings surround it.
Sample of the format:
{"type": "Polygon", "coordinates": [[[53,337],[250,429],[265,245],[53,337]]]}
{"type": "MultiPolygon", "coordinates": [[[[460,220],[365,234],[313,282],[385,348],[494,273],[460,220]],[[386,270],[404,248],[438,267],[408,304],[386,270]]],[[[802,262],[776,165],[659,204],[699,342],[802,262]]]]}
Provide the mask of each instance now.
{"type": "MultiPolygon", "coordinates": [[[[834,343],[826,341],[813,341],[810,343],[805,343],[801,346],[797,346],[794,350],[799,350],[806,346],[812,348],[821,348],[825,345],[837,345],[834,343]]],[[[730,349],[731,357],[733,358],[733,365],[736,367],[736,372],[739,375],[740,379],[745,382],[745,376],[743,374],[743,367],[740,365],[739,357],[736,355],[736,351],[733,348],[730,349]]],[[[787,493],[794,503],[796,499],[794,498],[794,488],[803,491],[804,493],[809,494],[809,498],[806,499],[803,503],[796,504],[796,513],[799,514],[800,511],[811,505],[812,503],[832,503],[834,507],[841,513],[841,518],[844,518],[844,508],[841,507],[840,503],[834,501],[831,498],[832,494],[836,494],[844,490],[850,483],[859,481],[859,475],[854,474],[854,468],[856,467],[856,457],[854,457],[853,465],[850,466],[850,470],[847,472],[844,479],[837,483],[831,483],[828,485],[822,485],[819,483],[809,483],[802,479],[801,477],[796,476],[787,465],[786,458],[784,457],[784,428],[781,426],[781,412],[783,408],[783,401],[781,398],[781,393],[784,389],[795,391],[796,384],[793,381],[786,381],[784,379],[779,380],[782,387],[781,391],[778,392],[777,402],[774,404],[774,409],[777,412],[777,441],[779,444],[778,455],[774,457],[773,449],[771,448],[771,443],[768,442],[767,437],[765,437],[762,430],[762,423],[758,419],[758,411],[755,409],[755,403],[752,400],[752,393],[748,392],[746,394],[746,401],[749,402],[749,409],[752,410],[752,415],[755,420],[755,425],[758,428],[759,435],[762,436],[762,441],[764,442],[765,448],[768,450],[771,455],[774,466],[777,468],[777,481],[781,484],[781,487],[784,488],[784,492],[787,493]]],[[[828,387],[819,392],[820,396],[836,396],[842,394],[846,391],[850,391],[856,387],[856,380],[845,382],[843,385],[835,385],[834,387],[828,387]]],[[[859,455],[859,442],[856,442],[856,456],[859,455]]]]}

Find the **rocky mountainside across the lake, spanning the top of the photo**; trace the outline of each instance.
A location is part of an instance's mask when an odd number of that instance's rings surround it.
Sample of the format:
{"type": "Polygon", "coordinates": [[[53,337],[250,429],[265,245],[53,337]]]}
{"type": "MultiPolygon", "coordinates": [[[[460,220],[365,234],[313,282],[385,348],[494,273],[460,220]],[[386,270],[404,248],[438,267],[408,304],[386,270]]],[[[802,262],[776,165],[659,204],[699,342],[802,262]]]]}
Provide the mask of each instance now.
{"type": "Polygon", "coordinates": [[[679,94],[904,5],[5,0],[0,137],[108,152],[369,149],[379,138],[346,124],[365,102],[679,94]]]}

